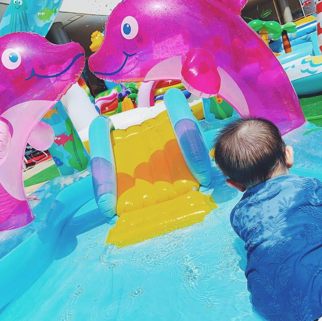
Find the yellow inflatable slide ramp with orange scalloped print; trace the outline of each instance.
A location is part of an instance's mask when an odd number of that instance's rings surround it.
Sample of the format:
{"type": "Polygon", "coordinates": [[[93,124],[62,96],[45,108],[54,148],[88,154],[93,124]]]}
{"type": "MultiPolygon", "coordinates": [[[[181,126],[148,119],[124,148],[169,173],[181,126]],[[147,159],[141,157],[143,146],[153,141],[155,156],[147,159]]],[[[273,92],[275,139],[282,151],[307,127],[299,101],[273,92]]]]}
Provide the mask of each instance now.
{"type": "Polygon", "coordinates": [[[204,220],[217,208],[189,171],[166,111],[111,132],[117,179],[116,225],[106,243],[123,247],[204,220]]]}

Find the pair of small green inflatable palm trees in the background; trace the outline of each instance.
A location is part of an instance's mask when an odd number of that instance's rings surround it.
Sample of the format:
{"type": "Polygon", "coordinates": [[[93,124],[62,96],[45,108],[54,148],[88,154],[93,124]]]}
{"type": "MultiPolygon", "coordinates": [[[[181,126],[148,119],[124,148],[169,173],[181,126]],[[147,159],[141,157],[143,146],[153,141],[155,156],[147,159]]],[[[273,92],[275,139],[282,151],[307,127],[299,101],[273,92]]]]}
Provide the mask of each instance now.
{"type": "Polygon", "coordinates": [[[288,33],[297,31],[296,23],[287,22],[281,26],[276,21],[261,21],[256,19],[249,22],[248,25],[254,31],[259,31],[260,37],[266,42],[267,45],[269,34],[272,36],[273,40],[278,40],[280,37],[282,37],[285,53],[292,52],[292,47],[289,41],[288,33]]]}

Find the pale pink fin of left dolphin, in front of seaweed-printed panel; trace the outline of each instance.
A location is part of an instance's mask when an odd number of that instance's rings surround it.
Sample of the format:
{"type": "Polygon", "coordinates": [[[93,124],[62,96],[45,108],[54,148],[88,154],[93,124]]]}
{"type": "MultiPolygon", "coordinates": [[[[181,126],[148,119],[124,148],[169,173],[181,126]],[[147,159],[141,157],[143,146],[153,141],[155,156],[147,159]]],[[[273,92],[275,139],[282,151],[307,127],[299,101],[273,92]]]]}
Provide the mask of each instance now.
{"type": "Polygon", "coordinates": [[[33,129],[28,143],[30,146],[37,150],[47,150],[54,142],[54,131],[52,127],[40,121],[33,129]]]}

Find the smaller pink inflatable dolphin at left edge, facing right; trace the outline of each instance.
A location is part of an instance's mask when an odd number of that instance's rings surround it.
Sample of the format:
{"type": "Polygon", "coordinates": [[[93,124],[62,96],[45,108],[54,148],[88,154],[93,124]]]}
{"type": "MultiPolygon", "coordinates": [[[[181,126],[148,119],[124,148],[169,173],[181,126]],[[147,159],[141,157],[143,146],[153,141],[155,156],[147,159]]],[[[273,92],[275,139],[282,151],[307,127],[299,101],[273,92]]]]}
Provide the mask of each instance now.
{"type": "MultiPolygon", "coordinates": [[[[17,32],[0,37],[0,57],[0,231],[3,231],[33,220],[22,181],[26,143],[33,129],[38,133],[46,129],[43,123],[37,124],[77,81],[85,54],[76,43],[57,46],[42,36],[17,32]]],[[[34,135],[32,140],[44,145],[34,135]]]]}

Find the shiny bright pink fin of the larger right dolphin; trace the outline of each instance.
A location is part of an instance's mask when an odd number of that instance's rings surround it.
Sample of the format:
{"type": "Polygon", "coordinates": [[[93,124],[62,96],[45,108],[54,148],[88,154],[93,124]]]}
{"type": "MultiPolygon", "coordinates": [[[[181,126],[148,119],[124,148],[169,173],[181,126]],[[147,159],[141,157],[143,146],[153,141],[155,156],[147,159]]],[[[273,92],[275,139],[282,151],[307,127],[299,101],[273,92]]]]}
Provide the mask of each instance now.
{"type": "Polygon", "coordinates": [[[181,81],[188,92],[198,97],[218,94],[221,80],[213,54],[204,48],[190,49],[182,65],[181,81]]]}

